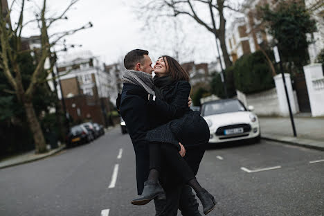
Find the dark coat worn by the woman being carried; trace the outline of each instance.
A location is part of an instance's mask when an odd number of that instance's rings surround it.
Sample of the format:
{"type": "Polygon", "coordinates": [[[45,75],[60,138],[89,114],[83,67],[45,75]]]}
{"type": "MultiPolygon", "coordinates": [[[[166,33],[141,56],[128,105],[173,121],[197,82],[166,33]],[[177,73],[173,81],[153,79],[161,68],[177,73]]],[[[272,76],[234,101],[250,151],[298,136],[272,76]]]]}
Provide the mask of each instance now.
{"type": "Polygon", "coordinates": [[[165,101],[158,97],[153,100],[151,96],[149,105],[165,124],[147,132],[147,141],[171,143],[178,148],[179,142],[185,147],[208,143],[210,135],[206,121],[198,111],[188,107],[189,82],[174,81],[163,89],[160,92],[165,101]]]}

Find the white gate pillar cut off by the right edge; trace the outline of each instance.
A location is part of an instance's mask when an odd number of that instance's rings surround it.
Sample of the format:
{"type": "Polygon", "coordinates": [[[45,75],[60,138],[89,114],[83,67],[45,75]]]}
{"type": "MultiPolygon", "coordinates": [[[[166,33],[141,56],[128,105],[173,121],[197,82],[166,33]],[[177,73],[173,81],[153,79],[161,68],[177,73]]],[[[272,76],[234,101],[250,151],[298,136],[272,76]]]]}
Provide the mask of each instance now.
{"type": "Polygon", "coordinates": [[[312,116],[324,116],[324,76],[322,64],[304,66],[312,116]]]}

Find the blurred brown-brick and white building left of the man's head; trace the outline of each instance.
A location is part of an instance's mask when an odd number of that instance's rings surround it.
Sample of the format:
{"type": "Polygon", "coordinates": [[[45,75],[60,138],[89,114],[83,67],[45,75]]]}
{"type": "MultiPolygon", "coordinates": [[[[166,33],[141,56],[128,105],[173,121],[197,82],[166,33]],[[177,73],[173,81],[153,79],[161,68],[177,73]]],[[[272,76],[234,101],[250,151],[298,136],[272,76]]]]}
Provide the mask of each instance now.
{"type": "MultiPolygon", "coordinates": [[[[109,75],[93,55],[75,57],[57,64],[62,96],[74,123],[91,120],[108,125],[109,75]]],[[[57,87],[61,98],[60,87],[57,87]]]]}

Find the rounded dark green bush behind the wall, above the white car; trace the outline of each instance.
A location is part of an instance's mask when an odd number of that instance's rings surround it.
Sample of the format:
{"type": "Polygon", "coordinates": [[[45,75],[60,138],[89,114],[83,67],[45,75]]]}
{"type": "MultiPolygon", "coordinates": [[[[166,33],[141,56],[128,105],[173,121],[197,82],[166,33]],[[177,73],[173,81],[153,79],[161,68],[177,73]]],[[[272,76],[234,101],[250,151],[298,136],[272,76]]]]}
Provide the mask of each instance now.
{"type": "Polygon", "coordinates": [[[234,82],[237,90],[255,93],[275,87],[270,66],[261,51],[243,55],[234,65],[234,82]]]}

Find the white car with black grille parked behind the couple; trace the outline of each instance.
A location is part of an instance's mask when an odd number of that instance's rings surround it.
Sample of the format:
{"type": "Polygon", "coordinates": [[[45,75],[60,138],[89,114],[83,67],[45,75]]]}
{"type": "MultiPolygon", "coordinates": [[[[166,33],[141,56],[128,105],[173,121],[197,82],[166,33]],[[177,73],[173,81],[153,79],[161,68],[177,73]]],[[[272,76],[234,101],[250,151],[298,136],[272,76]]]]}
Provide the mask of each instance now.
{"type": "Polygon", "coordinates": [[[260,123],[258,116],[246,109],[237,99],[206,102],[201,107],[201,116],[208,123],[209,143],[224,143],[243,139],[260,142],[260,123]]]}

